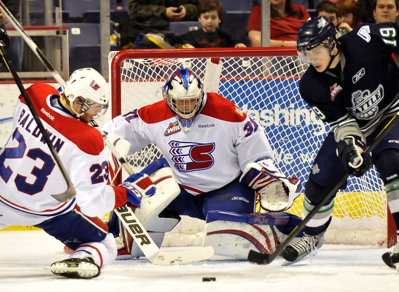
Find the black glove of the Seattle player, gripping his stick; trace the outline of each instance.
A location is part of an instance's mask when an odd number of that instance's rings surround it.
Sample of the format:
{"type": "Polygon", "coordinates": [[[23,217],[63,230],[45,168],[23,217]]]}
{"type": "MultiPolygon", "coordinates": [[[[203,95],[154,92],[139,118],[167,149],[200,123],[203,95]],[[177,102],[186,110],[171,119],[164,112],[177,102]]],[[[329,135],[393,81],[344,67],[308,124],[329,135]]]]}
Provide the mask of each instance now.
{"type": "Polygon", "coordinates": [[[337,143],[337,155],[350,169],[350,174],[360,177],[373,165],[370,153],[360,153],[359,148],[367,146],[360,137],[346,136],[337,143]]]}

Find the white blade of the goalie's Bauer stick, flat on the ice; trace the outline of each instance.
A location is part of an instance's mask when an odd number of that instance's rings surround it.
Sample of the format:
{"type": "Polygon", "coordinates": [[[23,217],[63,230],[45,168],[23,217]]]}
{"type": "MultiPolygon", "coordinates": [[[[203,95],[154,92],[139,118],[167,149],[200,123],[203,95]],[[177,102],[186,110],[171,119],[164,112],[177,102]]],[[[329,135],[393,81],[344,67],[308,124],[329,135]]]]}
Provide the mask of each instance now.
{"type": "Polygon", "coordinates": [[[163,252],[160,251],[157,257],[151,261],[153,264],[172,265],[180,263],[193,263],[209,260],[214,255],[212,246],[205,246],[201,248],[178,251],[178,252],[163,252]]]}

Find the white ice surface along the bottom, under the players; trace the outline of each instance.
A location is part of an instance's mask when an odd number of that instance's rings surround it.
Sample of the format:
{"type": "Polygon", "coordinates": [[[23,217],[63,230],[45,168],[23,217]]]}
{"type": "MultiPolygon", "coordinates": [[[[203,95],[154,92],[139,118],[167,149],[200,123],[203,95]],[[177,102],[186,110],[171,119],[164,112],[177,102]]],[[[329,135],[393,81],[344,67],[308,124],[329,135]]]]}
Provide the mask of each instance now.
{"type": "Polygon", "coordinates": [[[156,266],[144,258],[115,261],[98,278],[80,280],[44,269],[67,258],[61,242],[42,231],[7,231],[0,232],[0,292],[397,292],[399,273],[382,262],[385,251],[324,245],[311,262],[284,267],[280,259],[255,265],[215,256],[156,266]]]}

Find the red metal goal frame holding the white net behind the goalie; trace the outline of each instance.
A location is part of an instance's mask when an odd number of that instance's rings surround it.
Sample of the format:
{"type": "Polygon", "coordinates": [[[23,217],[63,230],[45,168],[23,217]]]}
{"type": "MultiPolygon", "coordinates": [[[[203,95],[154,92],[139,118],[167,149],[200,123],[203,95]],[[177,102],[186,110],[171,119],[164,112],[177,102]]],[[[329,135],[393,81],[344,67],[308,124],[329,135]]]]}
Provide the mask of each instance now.
{"type": "MultiPolygon", "coordinates": [[[[111,117],[122,114],[120,96],[122,96],[121,73],[122,63],[126,59],[144,58],[223,58],[223,57],[292,57],[297,55],[295,47],[270,47],[270,48],[212,48],[212,49],[145,49],[122,50],[117,52],[110,65],[110,87],[112,94],[111,117]]],[[[299,76],[298,76],[299,78],[299,76]]],[[[120,180],[119,176],[119,180],[120,180]]],[[[391,247],[397,242],[397,230],[392,215],[387,210],[387,246],[391,247]]]]}

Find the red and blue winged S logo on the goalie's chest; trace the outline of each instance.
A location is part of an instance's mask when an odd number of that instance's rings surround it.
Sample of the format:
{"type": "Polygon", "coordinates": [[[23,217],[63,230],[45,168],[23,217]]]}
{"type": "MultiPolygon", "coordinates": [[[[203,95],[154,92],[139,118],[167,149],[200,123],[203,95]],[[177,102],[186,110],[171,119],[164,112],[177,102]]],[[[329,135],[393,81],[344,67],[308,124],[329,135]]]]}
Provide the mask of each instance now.
{"type": "Polygon", "coordinates": [[[209,169],[215,163],[215,158],[211,154],[215,150],[214,142],[202,144],[170,141],[169,146],[174,167],[181,173],[209,169]]]}

